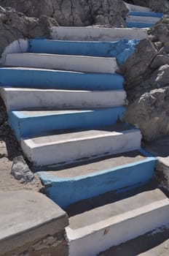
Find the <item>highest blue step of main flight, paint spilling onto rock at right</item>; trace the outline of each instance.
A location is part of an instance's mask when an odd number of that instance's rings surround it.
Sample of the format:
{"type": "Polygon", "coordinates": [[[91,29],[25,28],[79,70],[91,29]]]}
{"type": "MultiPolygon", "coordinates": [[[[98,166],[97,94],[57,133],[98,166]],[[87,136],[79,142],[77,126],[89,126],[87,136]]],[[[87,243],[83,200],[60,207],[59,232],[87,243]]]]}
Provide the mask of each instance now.
{"type": "Polygon", "coordinates": [[[29,40],[30,53],[65,54],[117,58],[119,66],[133,53],[138,39],[121,39],[117,42],[86,42],[61,40],[29,40]]]}

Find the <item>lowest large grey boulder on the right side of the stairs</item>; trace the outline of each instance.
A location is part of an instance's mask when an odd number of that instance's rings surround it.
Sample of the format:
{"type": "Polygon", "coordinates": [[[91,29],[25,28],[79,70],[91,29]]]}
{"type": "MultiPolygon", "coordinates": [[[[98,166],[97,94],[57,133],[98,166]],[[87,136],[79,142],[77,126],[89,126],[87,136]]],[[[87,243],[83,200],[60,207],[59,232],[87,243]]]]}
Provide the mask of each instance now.
{"type": "Polygon", "coordinates": [[[130,104],[125,121],[137,124],[145,140],[169,134],[169,86],[141,95],[130,104]]]}

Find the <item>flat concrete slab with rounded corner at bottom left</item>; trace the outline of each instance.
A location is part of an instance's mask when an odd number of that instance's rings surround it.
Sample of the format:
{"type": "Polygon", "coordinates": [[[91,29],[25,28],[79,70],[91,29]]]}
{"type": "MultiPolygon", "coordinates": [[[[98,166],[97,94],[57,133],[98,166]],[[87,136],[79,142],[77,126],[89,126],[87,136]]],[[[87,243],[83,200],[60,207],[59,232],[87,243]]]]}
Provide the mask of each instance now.
{"type": "MultiPolygon", "coordinates": [[[[0,192],[0,201],[0,255],[53,236],[68,225],[66,213],[40,193],[0,192]]],[[[34,246],[35,251],[36,248],[38,244],[34,246]]]]}

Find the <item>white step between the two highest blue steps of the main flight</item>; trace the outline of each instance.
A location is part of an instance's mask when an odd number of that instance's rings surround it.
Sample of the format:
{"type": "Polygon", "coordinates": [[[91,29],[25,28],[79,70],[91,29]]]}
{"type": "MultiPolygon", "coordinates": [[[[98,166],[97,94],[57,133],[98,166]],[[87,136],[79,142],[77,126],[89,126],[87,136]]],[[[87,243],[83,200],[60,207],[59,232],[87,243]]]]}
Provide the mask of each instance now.
{"type": "Polygon", "coordinates": [[[47,53],[10,53],[7,54],[4,65],[96,73],[114,73],[118,68],[116,58],[47,53]]]}

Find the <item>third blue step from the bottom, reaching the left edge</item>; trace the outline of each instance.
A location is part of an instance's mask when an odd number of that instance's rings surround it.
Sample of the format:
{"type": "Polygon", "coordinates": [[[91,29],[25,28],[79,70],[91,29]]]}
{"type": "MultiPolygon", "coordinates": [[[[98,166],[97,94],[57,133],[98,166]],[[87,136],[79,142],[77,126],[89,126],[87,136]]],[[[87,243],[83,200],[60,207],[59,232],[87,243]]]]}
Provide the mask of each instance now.
{"type": "Polygon", "coordinates": [[[36,89],[111,90],[123,89],[119,74],[84,73],[26,67],[0,68],[0,86],[36,89]]]}

